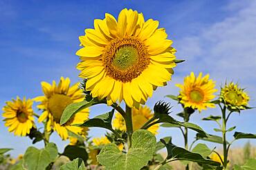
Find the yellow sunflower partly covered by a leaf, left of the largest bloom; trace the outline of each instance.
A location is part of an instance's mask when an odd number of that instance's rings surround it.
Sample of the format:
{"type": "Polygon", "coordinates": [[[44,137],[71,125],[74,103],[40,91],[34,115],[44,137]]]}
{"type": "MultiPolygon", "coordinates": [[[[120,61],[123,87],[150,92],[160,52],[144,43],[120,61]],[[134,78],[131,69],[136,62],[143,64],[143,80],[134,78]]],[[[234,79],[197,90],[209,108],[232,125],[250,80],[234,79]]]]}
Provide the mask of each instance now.
{"type": "Polygon", "coordinates": [[[84,128],[72,125],[84,123],[89,118],[89,109],[79,111],[67,123],[60,125],[60,118],[66,106],[84,100],[84,94],[78,87],[79,83],[70,87],[69,78],[61,77],[58,85],[56,85],[55,81],[53,81],[53,85],[46,82],[41,84],[44,96],[38,96],[35,101],[41,102],[37,107],[43,109],[44,112],[38,121],[47,120],[47,130],[51,131],[53,128],[62,140],[68,138],[68,131],[84,135],[84,128]]]}

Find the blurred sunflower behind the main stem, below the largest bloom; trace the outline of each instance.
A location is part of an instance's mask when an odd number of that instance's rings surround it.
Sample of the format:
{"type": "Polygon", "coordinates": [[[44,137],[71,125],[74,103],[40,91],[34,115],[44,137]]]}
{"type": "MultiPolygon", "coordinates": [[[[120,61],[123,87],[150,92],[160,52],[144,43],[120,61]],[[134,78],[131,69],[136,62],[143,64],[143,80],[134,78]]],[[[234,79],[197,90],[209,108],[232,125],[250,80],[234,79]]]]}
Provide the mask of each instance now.
{"type": "MultiPolygon", "coordinates": [[[[131,109],[132,114],[132,126],[134,131],[140,129],[140,127],[143,127],[147,121],[154,116],[152,113],[152,110],[149,109],[149,107],[140,106],[140,109],[131,109]]],[[[113,119],[113,127],[115,129],[118,129],[120,131],[126,131],[125,126],[125,119],[122,118],[122,115],[119,113],[116,113],[115,118],[113,119]]],[[[157,130],[159,129],[159,125],[153,125],[149,127],[147,130],[152,132],[152,134],[157,134],[157,130]]]]}

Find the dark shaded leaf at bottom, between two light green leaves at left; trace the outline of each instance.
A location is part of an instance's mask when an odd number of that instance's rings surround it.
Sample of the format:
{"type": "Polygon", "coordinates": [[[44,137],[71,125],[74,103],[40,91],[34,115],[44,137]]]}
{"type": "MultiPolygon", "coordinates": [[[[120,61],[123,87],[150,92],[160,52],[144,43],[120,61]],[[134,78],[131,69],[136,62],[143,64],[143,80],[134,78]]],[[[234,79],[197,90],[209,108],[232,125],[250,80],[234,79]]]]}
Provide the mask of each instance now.
{"type": "Polygon", "coordinates": [[[74,160],[75,158],[82,158],[82,160],[86,162],[88,159],[88,153],[86,152],[86,149],[82,146],[76,145],[66,146],[62,155],[67,156],[70,160],[74,160]]]}

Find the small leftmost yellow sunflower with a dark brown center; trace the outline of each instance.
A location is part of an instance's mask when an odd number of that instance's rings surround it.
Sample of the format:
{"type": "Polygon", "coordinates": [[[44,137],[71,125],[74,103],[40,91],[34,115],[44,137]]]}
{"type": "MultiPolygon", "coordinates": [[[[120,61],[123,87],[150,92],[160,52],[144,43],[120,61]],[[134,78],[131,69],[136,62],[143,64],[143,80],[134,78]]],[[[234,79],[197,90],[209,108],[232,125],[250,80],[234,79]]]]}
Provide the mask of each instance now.
{"type": "Polygon", "coordinates": [[[30,129],[35,127],[33,118],[33,100],[24,98],[6,102],[3,107],[3,117],[8,131],[14,132],[15,136],[26,136],[30,133],[30,129]]]}

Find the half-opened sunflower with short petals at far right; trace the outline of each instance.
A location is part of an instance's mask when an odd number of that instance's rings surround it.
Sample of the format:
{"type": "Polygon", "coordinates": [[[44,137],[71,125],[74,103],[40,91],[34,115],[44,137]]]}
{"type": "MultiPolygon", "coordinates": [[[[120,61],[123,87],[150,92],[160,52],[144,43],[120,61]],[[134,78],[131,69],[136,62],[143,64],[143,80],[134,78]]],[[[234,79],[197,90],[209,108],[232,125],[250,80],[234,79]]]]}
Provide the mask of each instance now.
{"type": "Polygon", "coordinates": [[[231,109],[246,109],[250,97],[244,92],[244,89],[231,82],[225,87],[221,87],[220,99],[231,109]]]}

